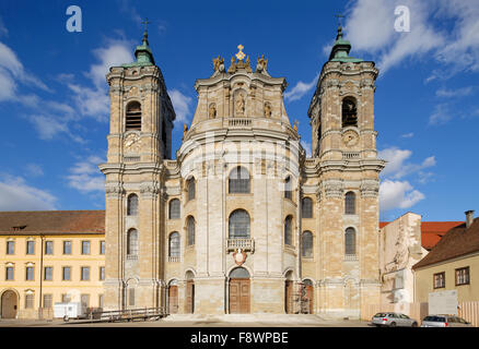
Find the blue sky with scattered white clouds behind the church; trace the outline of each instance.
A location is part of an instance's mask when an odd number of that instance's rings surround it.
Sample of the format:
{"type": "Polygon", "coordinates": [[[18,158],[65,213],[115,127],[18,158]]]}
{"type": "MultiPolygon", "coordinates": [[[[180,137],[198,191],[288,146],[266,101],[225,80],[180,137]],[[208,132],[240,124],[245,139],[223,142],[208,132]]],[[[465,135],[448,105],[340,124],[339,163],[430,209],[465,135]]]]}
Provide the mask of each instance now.
{"type": "Polygon", "coordinates": [[[0,210],[103,209],[108,67],[132,60],[148,16],[149,40],[183,123],[196,108],[196,79],[242,44],[265,55],[289,83],[285,107],[311,146],[307,107],[343,20],[351,56],[379,68],[375,127],[381,218],[411,210],[423,220],[464,220],[477,209],[479,2],[354,1],[2,1],[0,3],[0,210]],[[69,5],[82,32],[66,29],[69,5]],[[410,31],[396,32],[397,5],[410,31]]]}

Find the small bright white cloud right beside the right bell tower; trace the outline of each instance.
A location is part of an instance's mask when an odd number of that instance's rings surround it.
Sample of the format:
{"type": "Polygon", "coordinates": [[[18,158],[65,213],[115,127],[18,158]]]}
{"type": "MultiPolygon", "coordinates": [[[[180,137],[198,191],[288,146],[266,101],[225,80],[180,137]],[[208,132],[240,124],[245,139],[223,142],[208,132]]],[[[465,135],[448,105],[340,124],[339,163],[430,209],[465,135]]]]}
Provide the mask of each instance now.
{"type": "Polygon", "coordinates": [[[379,185],[379,209],[409,208],[421,200],[424,194],[414,190],[408,181],[384,180],[379,185]]]}

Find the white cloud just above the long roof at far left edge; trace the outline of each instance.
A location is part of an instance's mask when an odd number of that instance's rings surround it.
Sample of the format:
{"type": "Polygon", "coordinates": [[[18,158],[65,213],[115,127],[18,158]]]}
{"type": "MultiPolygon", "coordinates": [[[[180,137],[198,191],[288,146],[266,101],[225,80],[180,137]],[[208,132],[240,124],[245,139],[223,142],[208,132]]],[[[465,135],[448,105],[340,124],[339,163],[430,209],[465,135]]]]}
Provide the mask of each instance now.
{"type": "Polygon", "coordinates": [[[0,177],[0,210],[56,209],[56,201],[49,192],[26,184],[21,177],[0,177]]]}

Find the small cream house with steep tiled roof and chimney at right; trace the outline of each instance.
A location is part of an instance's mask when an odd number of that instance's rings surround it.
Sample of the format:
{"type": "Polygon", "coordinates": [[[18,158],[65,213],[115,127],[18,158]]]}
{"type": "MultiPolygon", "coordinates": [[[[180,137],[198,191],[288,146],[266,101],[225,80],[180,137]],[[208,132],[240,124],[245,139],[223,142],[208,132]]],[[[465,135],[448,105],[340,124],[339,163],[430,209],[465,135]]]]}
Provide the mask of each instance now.
{"type": "Polygon", "coordinates": [[[441,239],[431,252],[412,266],[416,302],[428,302],[429,293],[457,290],[457,301],[479,301],[479,219],[466,212],[466,222],[441,239]]]}

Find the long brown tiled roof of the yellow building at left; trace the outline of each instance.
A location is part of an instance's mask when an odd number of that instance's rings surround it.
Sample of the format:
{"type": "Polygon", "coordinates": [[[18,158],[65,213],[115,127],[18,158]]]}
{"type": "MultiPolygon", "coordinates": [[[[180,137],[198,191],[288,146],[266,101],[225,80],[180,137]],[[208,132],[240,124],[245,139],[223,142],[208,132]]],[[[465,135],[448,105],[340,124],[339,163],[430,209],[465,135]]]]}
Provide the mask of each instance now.
{"type": "Polygon", "coordinates": [[[105,233],[105,210],[0,212],[0,234],[105,233]]]}

